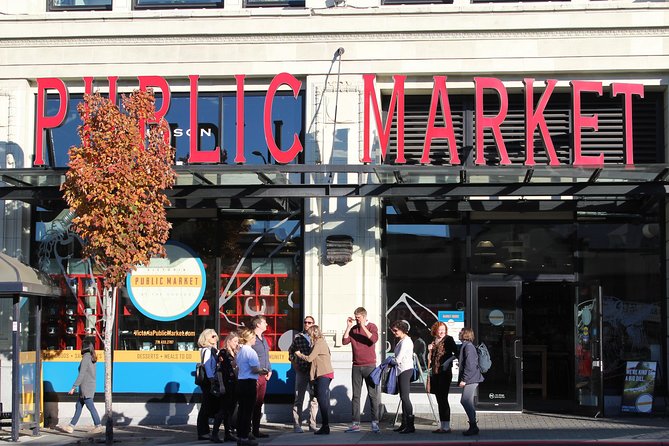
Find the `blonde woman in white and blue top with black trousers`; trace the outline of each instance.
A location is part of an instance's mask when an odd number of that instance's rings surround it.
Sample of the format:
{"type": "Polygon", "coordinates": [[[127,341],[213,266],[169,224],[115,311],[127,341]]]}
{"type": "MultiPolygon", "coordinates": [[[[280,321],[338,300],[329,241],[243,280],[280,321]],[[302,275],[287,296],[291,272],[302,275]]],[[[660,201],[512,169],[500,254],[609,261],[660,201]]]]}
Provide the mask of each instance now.
{"type": "Polygon", "coordinates": [[[269,370],[260,368],[258,353],[253,350],[256,334],[248,328],[239,333],[239,351],[237,352],[237,444],[240,446],[256,446],[257,441],[249,438],[251,418],[256,401],[258,376],[267,375],[269,370]]]}

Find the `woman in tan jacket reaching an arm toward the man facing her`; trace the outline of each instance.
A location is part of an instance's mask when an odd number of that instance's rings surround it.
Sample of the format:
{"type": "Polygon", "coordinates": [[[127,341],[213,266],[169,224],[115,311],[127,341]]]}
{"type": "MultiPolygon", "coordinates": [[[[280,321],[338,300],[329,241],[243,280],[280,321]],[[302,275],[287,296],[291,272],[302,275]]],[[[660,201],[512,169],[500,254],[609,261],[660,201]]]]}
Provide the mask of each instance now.
{"type": "Polygon", "coordinates": [[[307,329],[311,338],[311,353],[305,355],[300,351],[295,352],[298,358],[310,362],[309,377],[314,383],[316,390],[316,401],[321,411],[321,428],[314,434],[328,435],[330,433],[330,382],[334,379],[334,369],[330,355],[330,347],[323,338],[323,333],[318,325],[312,325],[307,329]]]}

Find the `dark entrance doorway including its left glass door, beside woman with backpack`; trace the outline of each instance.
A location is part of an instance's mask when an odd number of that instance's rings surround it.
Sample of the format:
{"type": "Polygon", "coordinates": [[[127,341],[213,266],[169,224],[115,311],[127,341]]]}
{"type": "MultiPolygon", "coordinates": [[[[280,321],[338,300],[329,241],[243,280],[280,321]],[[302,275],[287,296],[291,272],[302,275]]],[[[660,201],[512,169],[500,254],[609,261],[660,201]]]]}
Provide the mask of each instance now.
{"type": "Polygon", "coordinates": [[[574,412],[573,278],[470,276],[469,283],[476,342],[485,342],[493,361],[479,408],[574,412]]]}

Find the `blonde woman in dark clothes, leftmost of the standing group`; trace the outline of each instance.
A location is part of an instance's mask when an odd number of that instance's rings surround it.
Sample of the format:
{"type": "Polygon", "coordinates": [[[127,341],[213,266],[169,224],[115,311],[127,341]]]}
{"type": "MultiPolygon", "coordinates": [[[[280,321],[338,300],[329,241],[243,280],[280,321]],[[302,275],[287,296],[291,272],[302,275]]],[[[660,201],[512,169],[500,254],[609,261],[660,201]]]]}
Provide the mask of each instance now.
{"type": "Polygon", "coordinates": [[[200,347],[200,361],[209,378],[202,389],[202,404],[197,414],[197,439],[209,440],[209,417],[218,410],[218,398],[211,394],[211,380],[216,376],[216,358],[218,354],[218,333],[212,328],[205,328],[197,340],[200,347]]]}

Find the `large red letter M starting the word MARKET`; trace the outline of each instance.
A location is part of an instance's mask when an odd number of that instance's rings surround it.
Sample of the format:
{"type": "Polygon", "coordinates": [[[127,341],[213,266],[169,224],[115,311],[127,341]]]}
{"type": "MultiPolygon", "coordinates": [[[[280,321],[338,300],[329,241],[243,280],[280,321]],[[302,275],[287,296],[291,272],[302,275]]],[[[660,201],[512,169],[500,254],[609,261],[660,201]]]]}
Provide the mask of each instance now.
{"type": "Polygon", "coordinates": [[[369,120],[373,107],[374,117],[376,118],[376,128],[379,131],[379,143],[381,146],[381,159],[386,158],[388,150],[388,140],[390,139],[390,129],[395,115],[395,107],[397,106],[397,163],[404,164],[404,80],[406,76],[393,76],[393,94],[390,98],[390,107],[388,108],[388,119],[385,126],[381,119],[381,110],[379,110],[379,101],[376,98],[376,89],[374,81],[376,75],[363,75],[365,81],[365,116],[364,116],[364,153],[362,157],[363,163],[371,163],[371,147],[370,147],[370,129],[369,120]]]}

